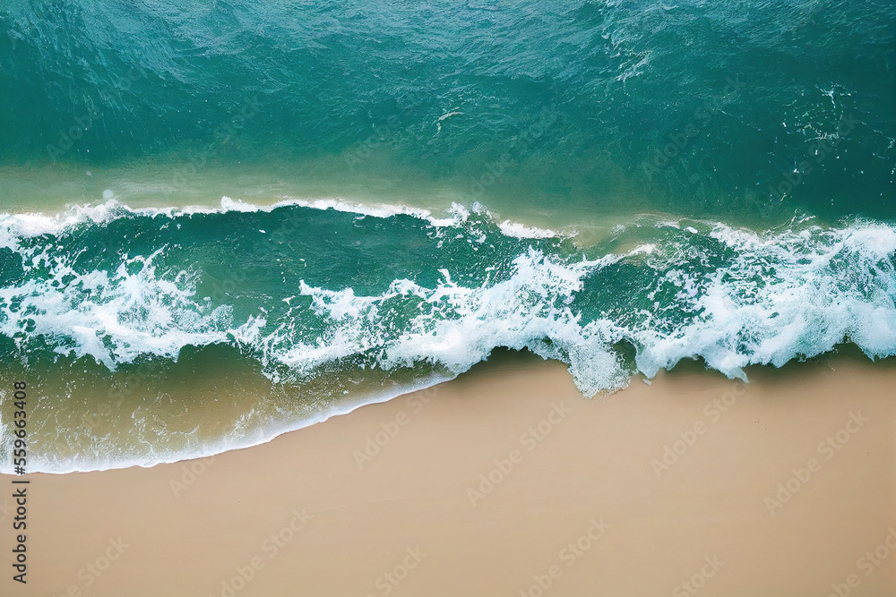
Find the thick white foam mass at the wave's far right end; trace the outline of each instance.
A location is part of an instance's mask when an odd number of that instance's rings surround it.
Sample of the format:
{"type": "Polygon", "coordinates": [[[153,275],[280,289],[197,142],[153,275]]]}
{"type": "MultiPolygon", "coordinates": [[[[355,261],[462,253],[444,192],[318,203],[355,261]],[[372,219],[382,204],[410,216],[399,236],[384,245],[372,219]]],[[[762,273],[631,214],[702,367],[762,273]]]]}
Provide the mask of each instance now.
{"type": "Polygon", "coordinates": [[[892,227],[756,235],[718,225],[711,236],[735,249],[736,257],[697,282],[688,272],[668,272],[699,314],[673,334],[636,330],[644,374],[700,356],[711,368],[745,379],[746,365],[780,367],[846,340],[873,358],[896,354],[892,227]]]}

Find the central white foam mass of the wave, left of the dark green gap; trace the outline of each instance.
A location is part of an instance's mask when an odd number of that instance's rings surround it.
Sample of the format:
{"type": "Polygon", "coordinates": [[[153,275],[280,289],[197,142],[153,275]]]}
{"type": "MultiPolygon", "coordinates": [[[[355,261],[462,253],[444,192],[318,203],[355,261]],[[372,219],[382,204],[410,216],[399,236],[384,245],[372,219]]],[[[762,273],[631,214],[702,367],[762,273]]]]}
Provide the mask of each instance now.
{"type": "Polygon", "coordinates": [[[497,346],[528,348],[545,358],[573,354],[573,378],[588,395],[599,389],[623,388],[626,372],[601,333],[601,327],[612,324],[593,322],[583,330],[566,306],[581,290],[583,277],[618,259],[607,256],[567,264],[530,249],[513,260],[513,274],[504,281],[471,288],[452,282],[445,272],[444,281],[435,288],[398,280],[389,293],[378,297],[303,285],[302,293],[312,296],[314,308],[340,324],[325,347],[303,346],[286,358],[295,364],[301,356],[305,366],[314,366],[322,358],[344,358],[375,346],[382,347],[377,365],[384,369],[431,362],[459,374],[487,358],[497,346]],[[410,320],[396,337],[390,333],[388,320],[378,320],[378,313],[399,291],[424,299],[430,308],[410,320]]]}

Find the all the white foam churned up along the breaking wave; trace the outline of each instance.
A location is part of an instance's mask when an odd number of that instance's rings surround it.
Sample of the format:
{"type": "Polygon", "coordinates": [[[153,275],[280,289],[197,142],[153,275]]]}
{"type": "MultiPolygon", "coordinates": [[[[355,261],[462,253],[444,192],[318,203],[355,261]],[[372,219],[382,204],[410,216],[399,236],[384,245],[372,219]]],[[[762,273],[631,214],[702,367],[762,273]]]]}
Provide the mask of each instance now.
{"type": "MultiPolygon", "coordinates": [[[[8,218],[4,224],[15,246],[22,235],[69,226],[71,218],[105,221],[119,217],[120,209],[106,205],[56,219],[18,217],[18,227],[9,226],[8,218]]],[[[221,209],[254,208],[228,203],[221,209]]],[[[437,226],[443,231],[464,226],[473,213],[482,212],[458,206],[437,226]]],[[[310,297],[311,311],[324,322],[314,336],[301,328],[306,313],[298,310],[307,307],[297,301],[286,303],[286,317],[261,311],[234,320],[228,305],[197,300],[189,272],[172,277],[157,271],[154,261],[163,250],[126,260],[114,271],[84,273],[37,248],[29,250],[31,265],[50,275],[0,290],[0,333],[20,342],[45,337],[57,352],[89,355],[110,368],[141,354],[175,359],[186,345],[236,343],[261,354],[271,375],[279,367],[312,374],[327,363],[363,355],[384,370],[429,362],[452,377],[486,359],[495,347],[506,346],[566,362],[586,396],[625,387],[634,371],[650,378],[683,359],[699,357],[729,377],[745,379],[748,365],[781,366],[829,352],[844,341],[872,358],[896,354],[896,228],[874,222],[775,234],[705,223],[703,232],[681,223],[667,228],[673,234],[663,233],[663,240],[599,259],[561,258],[529,248],[511,269],[489,275],[478,286],[461,284],[458,272],[449,268],[431,287],[396,279],[375,295],[302,282],[289,294],[310,297]],[[693,243],[694,235],[702,235],[703,242],[693,243]],[[672,288],[675,300],[642,309],[637,317],[617,318],[609,306],[585,316],[577,303],[588,293],[585,285],[604,279],[605,273],[612,279],[622,262],[656,271],[657,276],[645,279],[659,277],[659,286],[645,287],[645,295],[672,288]],[[415,306],[408,315],[411,303],[415,306]],[[620,342],[633,345],[634,369],[616,351],[620,342]]],[[[250,438],[221,439],[188,456],[260,443],[297,425],[279,422],[253,431],[250,438]]],[[[41,470],[151,465],[182,457],[108,456],[90,464],[47,462],[41,470]]]]}

